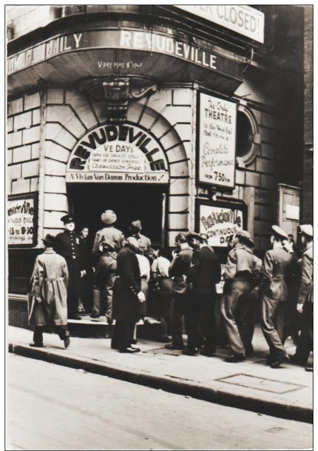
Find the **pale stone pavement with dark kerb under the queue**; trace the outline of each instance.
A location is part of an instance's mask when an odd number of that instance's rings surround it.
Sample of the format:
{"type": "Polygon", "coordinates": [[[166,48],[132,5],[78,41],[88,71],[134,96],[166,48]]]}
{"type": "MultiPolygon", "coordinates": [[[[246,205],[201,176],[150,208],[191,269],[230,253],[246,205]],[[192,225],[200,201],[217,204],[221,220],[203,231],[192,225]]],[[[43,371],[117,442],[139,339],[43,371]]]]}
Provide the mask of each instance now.
{"type": "MultiPolygon", "coordinates": [[[[224,361],[229,354],[225,348],[217,348],[213,357],[184,356],[166,350],[163,343],[139,338],[141,352],[136,354],[112,350],[109,338],[71,337],[65,349],[55,334],[44,334],[44,348],[32,348],[32,332],[14,326],[8,326],[7,340],[9,352],[21,356],[259,414],[313,422],[313,373],[290,363],[270,368],[259,326],[253,337],[254,356],[238,363],[224,361]]],[[[293,355],[293,342],[288,339],[285,345],[293,355]]]]}

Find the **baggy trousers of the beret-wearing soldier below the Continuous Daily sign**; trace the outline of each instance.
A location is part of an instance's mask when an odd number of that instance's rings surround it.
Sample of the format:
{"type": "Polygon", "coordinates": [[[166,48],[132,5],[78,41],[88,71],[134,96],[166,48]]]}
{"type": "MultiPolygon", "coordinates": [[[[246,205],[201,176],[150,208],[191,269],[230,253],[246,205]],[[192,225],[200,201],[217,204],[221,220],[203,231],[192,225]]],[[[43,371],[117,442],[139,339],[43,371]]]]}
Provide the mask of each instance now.
{"type": "Polygon", "coordinates": [[[237,316],[238,304],[247,302],[250,284],[245,279],[227,280],[221,300],[222,324],[233,354],[245,354],[241,339],[240,318],[237,316]]]}

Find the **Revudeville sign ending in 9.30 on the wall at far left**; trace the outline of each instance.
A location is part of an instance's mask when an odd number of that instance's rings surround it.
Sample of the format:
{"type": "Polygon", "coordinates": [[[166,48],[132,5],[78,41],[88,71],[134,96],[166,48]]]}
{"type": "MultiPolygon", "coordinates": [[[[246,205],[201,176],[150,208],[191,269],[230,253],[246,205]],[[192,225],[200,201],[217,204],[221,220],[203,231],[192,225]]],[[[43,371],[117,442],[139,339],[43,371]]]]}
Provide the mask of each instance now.
{"type": "Polygon", "coordinates": [[[8,244],[33,244],[34,199],[8,201],[8,244]]]}

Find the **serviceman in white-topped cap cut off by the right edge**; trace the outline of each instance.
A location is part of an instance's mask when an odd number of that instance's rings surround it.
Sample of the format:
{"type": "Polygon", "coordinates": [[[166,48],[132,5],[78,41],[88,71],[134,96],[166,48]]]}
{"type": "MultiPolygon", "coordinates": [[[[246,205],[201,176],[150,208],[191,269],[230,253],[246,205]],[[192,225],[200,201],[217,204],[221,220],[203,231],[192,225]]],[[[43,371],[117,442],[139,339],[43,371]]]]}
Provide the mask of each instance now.
{"type": "Polygon", "coordinates": [[[302,327],[292,361],[306,365],[306,371],[313,371],[313,229],[310,224],[303,224],[299,229],[305,247],[297,299],[297,312],[302,314],[302,327]]]}

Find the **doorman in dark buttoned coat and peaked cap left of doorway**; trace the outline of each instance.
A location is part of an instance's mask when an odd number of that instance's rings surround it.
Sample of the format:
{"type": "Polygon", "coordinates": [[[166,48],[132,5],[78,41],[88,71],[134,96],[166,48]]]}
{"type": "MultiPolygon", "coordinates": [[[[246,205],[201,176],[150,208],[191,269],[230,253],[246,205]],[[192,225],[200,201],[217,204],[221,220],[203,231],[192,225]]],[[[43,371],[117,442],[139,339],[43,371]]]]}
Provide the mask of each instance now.
{"type": "Polygon", "coordinates": [[[77,316],[78,298],[81,294],[81,277],[86,273],[82,258],[82,247],[79,235],[74,232],[75,222],[72,215],[65,215],[61,218],[64,223],[64,232],[55,237],[54,250],[62,255],[67,262],[68,285],[67,285],[67,311],[69,319],[82,319],[77,316]]]}

